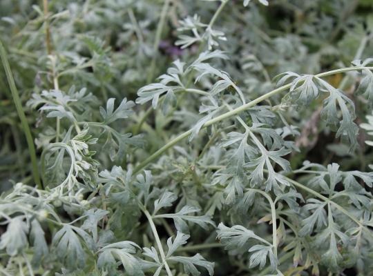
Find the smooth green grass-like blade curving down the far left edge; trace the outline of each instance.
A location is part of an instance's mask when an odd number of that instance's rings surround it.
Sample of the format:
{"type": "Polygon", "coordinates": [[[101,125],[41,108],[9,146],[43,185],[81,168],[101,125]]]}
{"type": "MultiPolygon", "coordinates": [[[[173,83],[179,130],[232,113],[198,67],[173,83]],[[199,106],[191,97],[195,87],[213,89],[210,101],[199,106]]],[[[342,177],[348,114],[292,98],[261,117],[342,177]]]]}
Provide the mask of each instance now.
{"type": "Polygon", "coordinates": [[[41,181],[40,181],[40,176],[39,176],[39,169],[37,166],[37,157],[36,157],[36,152],[35,152],[34,141],[32,139],[31,130],[30,130],[30,127],[28,126],[25,112],[23,111],[21,99],[19,98],[18,91],[15,86],[15,79],[13,78],[12,71],[10,70],[8,57],[6,55],[6,50],[3,47],[2,41],[0,41],[0,56],[1,56],[1,61],[3,62],[3,68],[6,72],[6,78],[8,79],[10,92],[12,92],[12,98],[15,103],[15,107],[17,109],[17,114],[18,114],[19,119],[21,120],[23,132],[25,132],[26,141],[28,144],[28,152],[30,153],[30,159],[31,159],[31,164],[32,164],[32,175],[34,176],[35,184],[37,184],[37,187],[41,189],[42,186],[41,186],[41,181]]]}

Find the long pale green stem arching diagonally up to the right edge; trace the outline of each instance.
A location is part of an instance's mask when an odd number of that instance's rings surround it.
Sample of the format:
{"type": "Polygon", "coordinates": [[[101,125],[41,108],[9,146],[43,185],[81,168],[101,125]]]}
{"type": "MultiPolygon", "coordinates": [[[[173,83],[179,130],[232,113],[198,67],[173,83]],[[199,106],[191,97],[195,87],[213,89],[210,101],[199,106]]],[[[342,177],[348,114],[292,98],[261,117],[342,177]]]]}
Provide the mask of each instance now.
{"type": "MultiPolygon", "coordinates": [[[[331,71],[323,72],[323,73],[320,73],[318,75],[315,75],[315,77],[327,77],[329,75],[335,75],[335,74],[338,74],[338,73],[350,72],[350,71],[355,71],[355,70],[362,70],[364,68],[366,68],[368,70],[373,70],[373,67],[364,67],[364,66],[347,67],[347,68],[341,68],[341,69],[336,69],[336,70],[331,70],[331,71]]],[[[253,101],[250,101],[249,103],[245,103],[242,106],[239,106],[238,108],[235,108],[235,109],[233,109],[231,111],[225,112],[224,114],[219,115],[218,117],[215,117],[215,118],[207,121],[202,126],[202,128],[207,128],[208,126],[211,126],[211,125],[217,123],[218,121],[222,121],[222,120],[227,119],[229,117],[235,116],[235,115],[237,115],[238,113],[240,113],[242,111],[245,111],[245,110],[247,110],[247,109],[249,109],[249,108],[251,108],[253,106],[256,106],[257,103],[265,101],[265,99],[268,99],[269,97],[272,97],[272,96],[274,96],[274,95],[276,95],[276,94],[278,94],[280,92],[283,92],[283,91],[289,89],[290,87],[291,87],[291,83],[286,84],[285,86],[280,86],[279,88],[276,88],[274,90],[271,90],[267,94],[262,95],[262,96],[260,96],[260,97],[258,97],[256,99],[254,99],[253,101]]],[[[186,132],[183,132],[182,134],[178,135],[178,137],[175,137],[174,139],[172,139],[171,141],[169,141],[169,143],[167,143],[166,145],[162,146],[162,148],[160,148],[159,150],[157,150],[156,152],[154,152],[151,156],[149,156],[144,161],[142,161],[135,168],[135,170],[133,172],[134,173],[140,172],[140,170],[142,170],[143,168],[145,168],[146,166],[148,166],[154,159],[157,159],[157,157],[160,157],[160,155],[162,155],[166,150],[169,150],[169,148],[172,148],[173,146],[175,146],[175,144],[178,144],[179,141],[182,141],[182,139],[185,139],[189,135],[191,135],[192,131],[193,131],[192,129],[187,130],[186,132]]]]}

